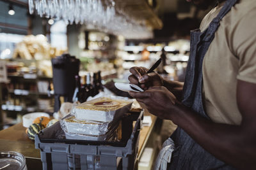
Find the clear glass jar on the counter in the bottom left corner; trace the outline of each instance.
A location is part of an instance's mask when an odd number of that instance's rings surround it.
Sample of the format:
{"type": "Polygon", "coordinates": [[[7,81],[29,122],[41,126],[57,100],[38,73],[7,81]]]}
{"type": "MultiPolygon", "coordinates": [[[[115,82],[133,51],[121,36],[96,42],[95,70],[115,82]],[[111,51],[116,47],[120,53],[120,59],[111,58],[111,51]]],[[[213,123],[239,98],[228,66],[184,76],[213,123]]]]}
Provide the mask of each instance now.
{"type": "Polygon", "coordinates": [[[18,152],[0,152],[0,169],[4,170],[27,170],[24,155],[18,152]]]}

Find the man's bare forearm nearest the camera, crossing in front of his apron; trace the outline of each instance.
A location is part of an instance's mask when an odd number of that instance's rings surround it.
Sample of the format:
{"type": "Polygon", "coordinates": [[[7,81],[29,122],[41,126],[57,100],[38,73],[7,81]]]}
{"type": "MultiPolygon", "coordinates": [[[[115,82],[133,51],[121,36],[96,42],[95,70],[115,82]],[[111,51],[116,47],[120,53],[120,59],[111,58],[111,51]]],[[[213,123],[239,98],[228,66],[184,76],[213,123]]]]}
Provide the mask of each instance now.
{"type": "Polygon", "coordinates": [[[256,141],[255,134],[250,134],[253,129],[246,129],[243,125],[216,124],[178,105],[174,110],[177,114],[172,114],[170,119],[200,146],[231,166],[255,169],[256,141]]]}

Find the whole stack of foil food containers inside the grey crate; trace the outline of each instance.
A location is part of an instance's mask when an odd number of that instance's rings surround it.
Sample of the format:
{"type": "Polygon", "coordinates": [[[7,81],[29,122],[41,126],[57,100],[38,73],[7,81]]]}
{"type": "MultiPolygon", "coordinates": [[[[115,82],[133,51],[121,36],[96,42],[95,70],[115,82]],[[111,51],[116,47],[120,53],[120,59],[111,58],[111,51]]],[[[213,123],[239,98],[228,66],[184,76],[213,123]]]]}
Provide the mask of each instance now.
{"type": "Polygon", "coordinates": [[[120,118],[131,108],[132,101],[100,97],[77,104],[72,114],[61,120],[67,139],[115,141],[120,118]]]}

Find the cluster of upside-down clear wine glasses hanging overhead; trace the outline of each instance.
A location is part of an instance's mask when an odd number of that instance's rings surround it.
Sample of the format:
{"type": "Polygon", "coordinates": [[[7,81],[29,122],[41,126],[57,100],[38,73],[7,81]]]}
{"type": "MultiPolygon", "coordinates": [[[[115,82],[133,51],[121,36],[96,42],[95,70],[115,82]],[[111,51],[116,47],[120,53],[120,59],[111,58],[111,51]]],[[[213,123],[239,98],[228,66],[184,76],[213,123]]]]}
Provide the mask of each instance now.
{"type": "Polygon", "coordinates": [[[127,15],[115,0],[28,0],[29,13],[63,20],[65,24],[93,25],[99,31],[125,38],[152,38],[152,29],[127,15]]]}

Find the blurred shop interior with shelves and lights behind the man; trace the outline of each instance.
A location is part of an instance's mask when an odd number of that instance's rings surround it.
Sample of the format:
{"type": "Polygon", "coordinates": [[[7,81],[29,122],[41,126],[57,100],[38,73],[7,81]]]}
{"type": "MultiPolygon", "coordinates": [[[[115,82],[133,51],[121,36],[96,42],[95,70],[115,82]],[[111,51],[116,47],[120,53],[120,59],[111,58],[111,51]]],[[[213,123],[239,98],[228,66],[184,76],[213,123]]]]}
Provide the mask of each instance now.
{"type": "Polygon", "coordinates": [[[22,123],[26,113],[56,111],[57,56],[80,60],[81,85],[88,75],[93,85],[99,73],[102,89],[112,90],[111,82],[129,83],[129,68],[149,68],[159,58],[157,73],[184,81],[189,31],[207,13],[185,0],[49,2],[0,1],[0,130],[22,123]]]}

